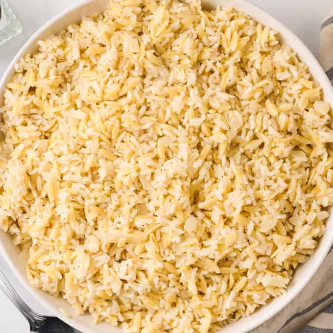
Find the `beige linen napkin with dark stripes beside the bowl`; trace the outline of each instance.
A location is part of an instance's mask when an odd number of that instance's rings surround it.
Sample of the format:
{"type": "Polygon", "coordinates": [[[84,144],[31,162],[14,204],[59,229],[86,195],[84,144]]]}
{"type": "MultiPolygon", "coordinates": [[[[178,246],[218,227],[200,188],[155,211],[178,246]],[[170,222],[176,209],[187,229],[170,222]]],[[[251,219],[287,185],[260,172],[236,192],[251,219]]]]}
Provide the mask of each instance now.
{"type": "MultiPolygon", "coordinates": [[[[333,13],[321,26],[320,61],[333,83],[333,13]]],[[[251,333],[333,333],[332,250],[302,292],[251,333]]]]}

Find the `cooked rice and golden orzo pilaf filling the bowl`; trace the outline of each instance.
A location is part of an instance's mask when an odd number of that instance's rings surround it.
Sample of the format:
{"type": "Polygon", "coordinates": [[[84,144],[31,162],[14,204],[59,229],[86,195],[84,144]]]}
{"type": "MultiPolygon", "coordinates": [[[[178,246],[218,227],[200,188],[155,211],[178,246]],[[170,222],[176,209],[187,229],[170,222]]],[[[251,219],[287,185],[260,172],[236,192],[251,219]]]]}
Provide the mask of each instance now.
{"type": "Polygon", "coordinates": [[[78,313],[216,330],[284,293],[324,234],[330,106],[247,15],[111,1],[15,70],[0,223],[30,283],[78,313]]]}

